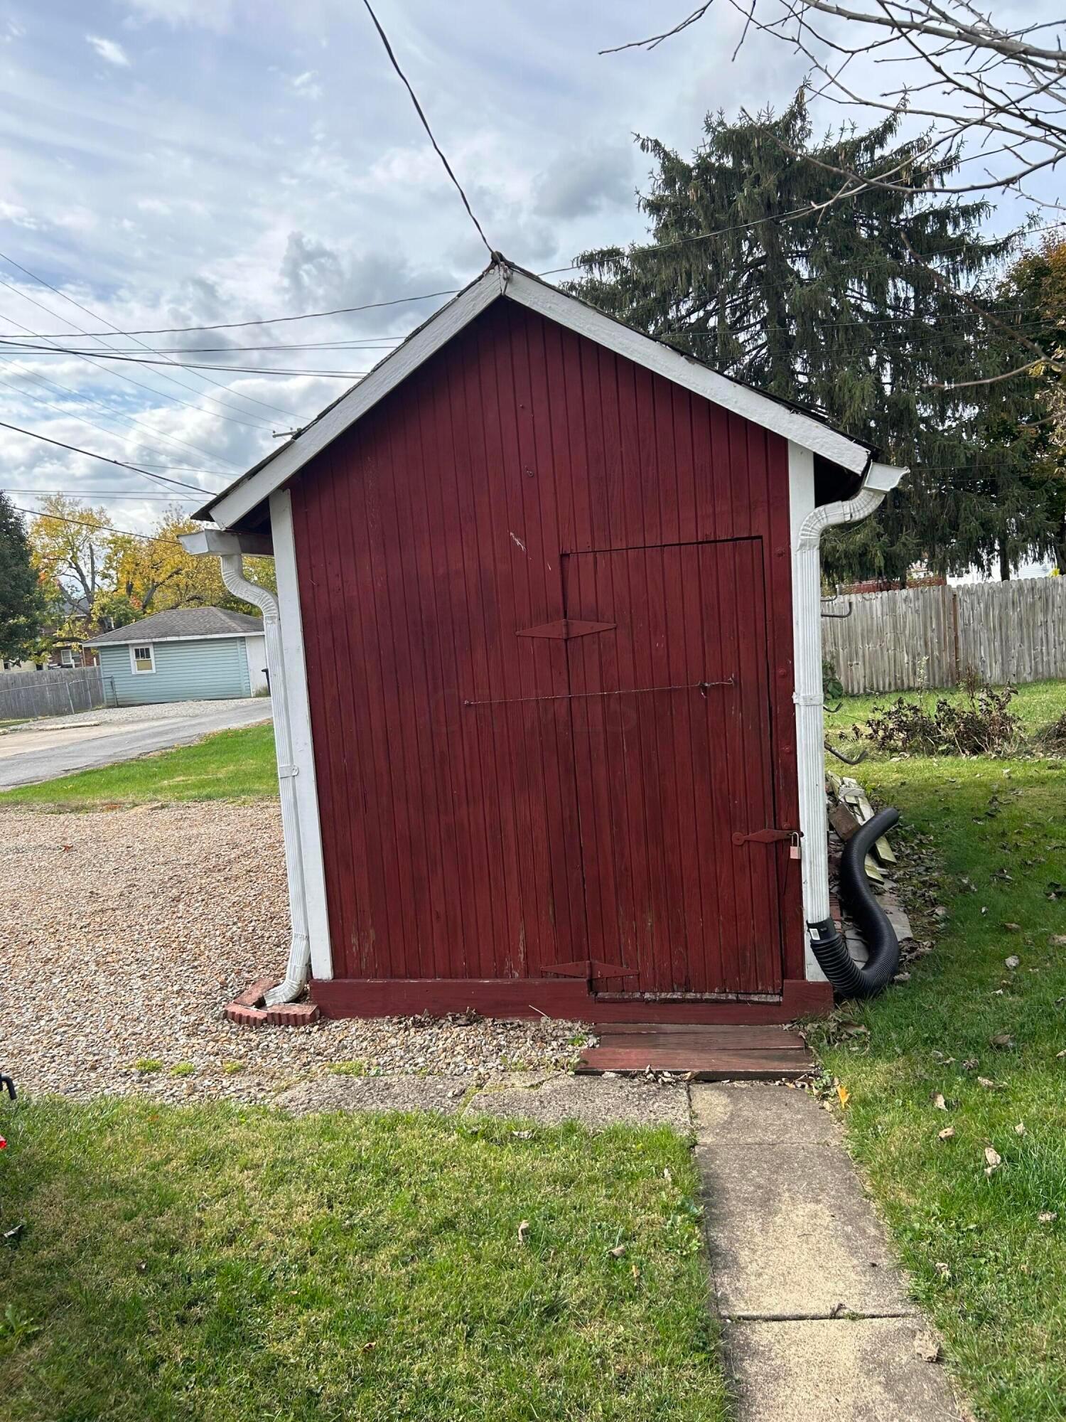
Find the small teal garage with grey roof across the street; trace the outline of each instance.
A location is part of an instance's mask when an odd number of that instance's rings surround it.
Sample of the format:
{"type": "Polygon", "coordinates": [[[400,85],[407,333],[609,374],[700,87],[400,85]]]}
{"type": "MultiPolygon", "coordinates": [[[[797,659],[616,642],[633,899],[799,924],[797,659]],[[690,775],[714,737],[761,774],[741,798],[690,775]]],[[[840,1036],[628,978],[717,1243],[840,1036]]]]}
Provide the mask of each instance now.
{"type": "Polygon", "coordinates": [[[266,695],[263,621],[223,607],[175,607],[85,641],[111,707],[266,695]]]}

